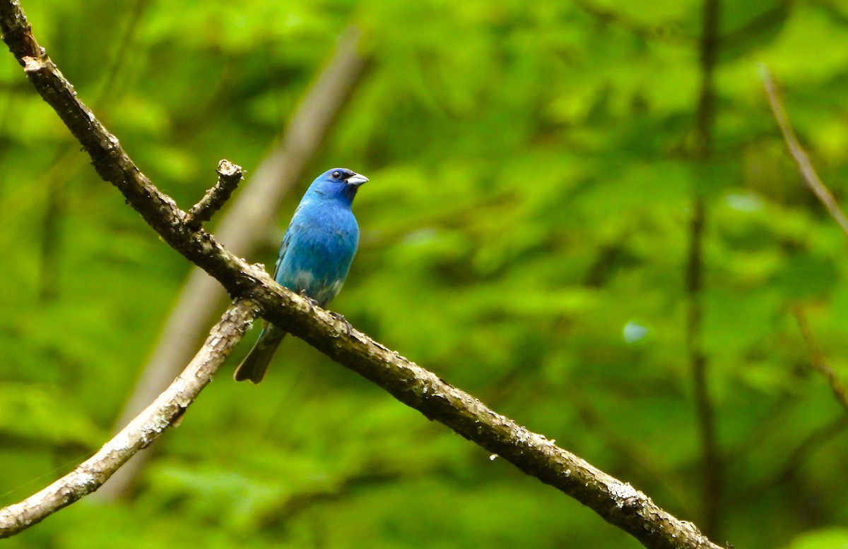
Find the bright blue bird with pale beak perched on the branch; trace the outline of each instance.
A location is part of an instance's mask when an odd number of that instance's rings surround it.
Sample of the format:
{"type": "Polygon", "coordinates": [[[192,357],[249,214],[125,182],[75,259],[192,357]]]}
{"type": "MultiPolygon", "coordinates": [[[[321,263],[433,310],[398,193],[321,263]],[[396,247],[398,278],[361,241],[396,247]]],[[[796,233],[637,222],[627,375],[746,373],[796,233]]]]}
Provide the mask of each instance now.
{"type": "MultiPolygon", "coordinates": [[[[368,178],[344,168],[319,175],[294,211],[274,280],[326,307],[342,289],[360,241],[360,226],[350,205],[368,178]]],[[[259,383],[286,332],[265,322],[254,347],[233,379],[259,383]]]]}

